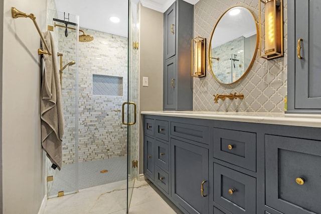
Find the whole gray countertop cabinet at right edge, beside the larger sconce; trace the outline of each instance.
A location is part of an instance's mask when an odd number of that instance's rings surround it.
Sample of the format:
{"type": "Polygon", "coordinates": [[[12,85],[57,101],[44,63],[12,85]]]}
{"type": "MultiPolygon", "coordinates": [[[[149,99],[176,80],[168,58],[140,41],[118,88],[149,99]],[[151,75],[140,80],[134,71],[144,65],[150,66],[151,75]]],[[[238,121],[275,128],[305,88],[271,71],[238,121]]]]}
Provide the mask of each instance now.
{"type": "Polygon", "coordinates": [[[321,113],[320,8],[319,0],[287,1],[288,113],[321,113]]]}

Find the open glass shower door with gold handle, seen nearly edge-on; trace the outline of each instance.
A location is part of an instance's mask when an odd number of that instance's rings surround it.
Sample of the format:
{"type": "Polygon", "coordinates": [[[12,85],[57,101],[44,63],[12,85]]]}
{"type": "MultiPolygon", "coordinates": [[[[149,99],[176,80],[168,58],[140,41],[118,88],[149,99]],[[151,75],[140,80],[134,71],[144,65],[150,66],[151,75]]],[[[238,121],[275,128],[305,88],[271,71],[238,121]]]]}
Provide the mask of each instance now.
{"type": "Polygon", "coordinates": [[[127,153],[127,213],[130,206],[135,178],[138,177],[139,154],[139,114],[138,79],[139,79],[139,6],[134,1],[128,1],[128,153],[127,153]]]}

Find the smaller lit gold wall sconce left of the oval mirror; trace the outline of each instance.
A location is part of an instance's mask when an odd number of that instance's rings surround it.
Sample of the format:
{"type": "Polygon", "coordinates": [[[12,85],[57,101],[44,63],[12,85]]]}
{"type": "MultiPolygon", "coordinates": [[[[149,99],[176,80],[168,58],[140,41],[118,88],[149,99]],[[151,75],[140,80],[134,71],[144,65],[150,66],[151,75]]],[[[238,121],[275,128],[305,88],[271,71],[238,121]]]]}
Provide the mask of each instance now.
{"type": "Polygon", "coordinates": [[[206,76],[205,45],[205,38],[196,37],[192,39],[192,76],[194,77],[206,76]]]}

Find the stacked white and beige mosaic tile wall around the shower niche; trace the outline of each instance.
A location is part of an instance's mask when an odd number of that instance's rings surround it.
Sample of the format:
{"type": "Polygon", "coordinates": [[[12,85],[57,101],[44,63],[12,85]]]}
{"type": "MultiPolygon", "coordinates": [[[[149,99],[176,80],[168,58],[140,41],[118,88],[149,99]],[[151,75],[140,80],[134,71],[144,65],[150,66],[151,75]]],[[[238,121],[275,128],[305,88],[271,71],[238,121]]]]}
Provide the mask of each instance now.
{"type": "MultiPolygon", "coordinates": [[[[76,60],[75,31],[68,37],[60,29],[59,50],[63,64],[76,60]]],[[[94,40],[78,43],[79,66],[79,161],[106,159],[127,154],[127,129],[121,123],[121,105],[127,100],[127,38],[83,29],[94,40]],[[92,95],[92,74],[123,77],[123,96],[92,95]]],[[[80,33],[82,34],[82,33],[80,33]]],[[[75,157],[74,118],[75,66],[63,74],[65,107],[65,138],[63,162],[73,163],[75,157]]]]}

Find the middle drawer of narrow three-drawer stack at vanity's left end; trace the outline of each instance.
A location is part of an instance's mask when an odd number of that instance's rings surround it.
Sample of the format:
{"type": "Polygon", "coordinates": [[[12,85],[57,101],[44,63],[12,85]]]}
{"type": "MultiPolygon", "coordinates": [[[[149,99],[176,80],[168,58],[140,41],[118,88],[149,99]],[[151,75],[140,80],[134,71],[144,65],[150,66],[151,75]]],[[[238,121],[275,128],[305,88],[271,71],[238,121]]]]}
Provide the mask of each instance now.
{"type": "Polygon", "coordinates": [[[156,154],[155,154],[155,162],[156,165],[161,167],[164,170],[169,171],[169,159],[170,159],[170,153],[169,153],[169,145],[166,143],[163,143],[161,141],[155,141],[156,144],[156,154]]]}

